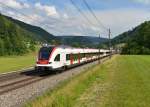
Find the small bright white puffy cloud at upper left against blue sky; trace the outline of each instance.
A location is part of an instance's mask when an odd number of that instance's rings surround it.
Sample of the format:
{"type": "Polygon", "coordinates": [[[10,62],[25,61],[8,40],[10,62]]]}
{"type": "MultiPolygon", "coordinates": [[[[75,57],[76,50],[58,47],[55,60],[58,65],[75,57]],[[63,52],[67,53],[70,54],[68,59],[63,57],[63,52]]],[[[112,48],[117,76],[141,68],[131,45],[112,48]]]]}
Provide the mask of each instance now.
{"type": "Polygon", "coordinates": [[[55,6],[42,5],[41,3],[35,4],[36,9],[46,12],[47,16],[58,16],[55,6]]]}

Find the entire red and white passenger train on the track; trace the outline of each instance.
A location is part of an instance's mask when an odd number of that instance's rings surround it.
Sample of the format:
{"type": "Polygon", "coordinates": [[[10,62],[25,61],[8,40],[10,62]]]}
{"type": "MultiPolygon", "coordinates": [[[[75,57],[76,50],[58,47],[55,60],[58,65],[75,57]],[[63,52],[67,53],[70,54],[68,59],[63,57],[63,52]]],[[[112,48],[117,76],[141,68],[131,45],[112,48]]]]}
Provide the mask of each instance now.
{"type": "Polygon", "coordinates": [[[110,54],[104,49],[82,49],[66,46],[41,47],[36,70],[64,70],[66,68],[97,60],[110,54]]]}

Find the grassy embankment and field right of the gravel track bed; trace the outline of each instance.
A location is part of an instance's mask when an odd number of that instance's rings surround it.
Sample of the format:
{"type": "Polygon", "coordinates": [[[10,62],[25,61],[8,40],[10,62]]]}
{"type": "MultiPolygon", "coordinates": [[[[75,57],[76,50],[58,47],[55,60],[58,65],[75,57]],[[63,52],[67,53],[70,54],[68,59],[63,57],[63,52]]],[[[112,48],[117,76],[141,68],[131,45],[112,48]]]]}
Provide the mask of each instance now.
{"type": "Polygon", "coordinates": [[[66,80],[27,107],[148,107],[150,56],[115,56],[66,80]]]}

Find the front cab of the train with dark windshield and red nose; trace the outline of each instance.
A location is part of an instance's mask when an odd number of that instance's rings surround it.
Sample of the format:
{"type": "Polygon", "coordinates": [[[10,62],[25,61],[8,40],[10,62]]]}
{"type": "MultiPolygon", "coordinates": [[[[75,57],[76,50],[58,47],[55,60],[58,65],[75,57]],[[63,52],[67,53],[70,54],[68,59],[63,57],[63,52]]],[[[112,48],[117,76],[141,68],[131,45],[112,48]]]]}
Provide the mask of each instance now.
{"type": "Polygon", "coordinates": [[[37,71],[56,70],[63,66],[64,54],[56,47],[42,47],[39,51],[37,64],[35,69],[37,71]]]}

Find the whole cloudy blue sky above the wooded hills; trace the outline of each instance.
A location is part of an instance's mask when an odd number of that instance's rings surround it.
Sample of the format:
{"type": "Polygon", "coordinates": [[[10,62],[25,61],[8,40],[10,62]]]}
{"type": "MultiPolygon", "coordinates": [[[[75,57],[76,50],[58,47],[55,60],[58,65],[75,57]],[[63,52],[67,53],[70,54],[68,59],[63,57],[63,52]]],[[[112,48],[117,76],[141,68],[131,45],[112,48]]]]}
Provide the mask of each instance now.
{"type": "Polygon", "coordinates": [[[0,0],[0,12],[56,35],[112,38],[150,20],[150,0],[0,0]],[[80,13],[80,11],[81,13],[80,13]]]}

